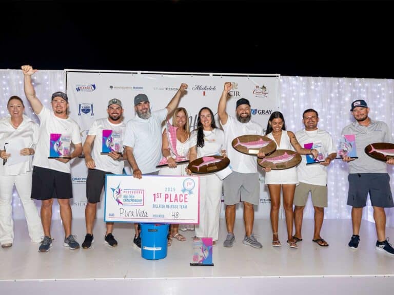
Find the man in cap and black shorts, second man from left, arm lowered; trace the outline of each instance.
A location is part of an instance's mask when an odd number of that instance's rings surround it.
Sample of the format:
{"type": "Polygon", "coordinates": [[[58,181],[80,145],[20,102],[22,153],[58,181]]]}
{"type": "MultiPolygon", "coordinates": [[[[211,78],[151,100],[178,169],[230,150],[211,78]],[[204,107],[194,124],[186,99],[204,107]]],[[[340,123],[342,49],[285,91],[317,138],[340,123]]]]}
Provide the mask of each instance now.
{"type": "MultiPolygon", "coordinates": [[[[86,236],[82,243],[83,249],[92,247],[93,223],[96,216],[97,203],[100,202],[101,192],[107,174],[122,174],[124,162],[122,159],[123,138],[126,123],[123,122],[122,101],[113,98],[108,101],[108,117],[97,119],[89,128],[83,151],[88,177],[86,179],[85,208],[86,236]],[[93,146],[92,146],[93,145],[93,146]]],[[[113,222],[107,222],[104,240],[110,247],[117,246],[112,235],[113,222]]]]}

